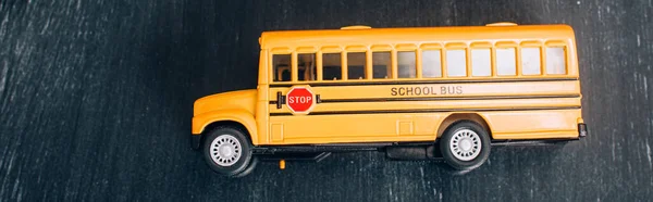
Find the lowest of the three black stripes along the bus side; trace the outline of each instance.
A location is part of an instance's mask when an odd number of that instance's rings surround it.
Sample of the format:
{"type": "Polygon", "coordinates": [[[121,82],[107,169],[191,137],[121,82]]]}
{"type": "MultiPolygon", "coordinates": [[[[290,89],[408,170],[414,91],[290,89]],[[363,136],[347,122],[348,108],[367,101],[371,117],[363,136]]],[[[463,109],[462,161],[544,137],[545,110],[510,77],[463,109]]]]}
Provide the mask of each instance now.
{"type": "MultiPolygon", "coordinates": [[[[439,112],[496,112],[496,111],[539,111],[539,110],[577,110],[576,106],[539,106],[539,108],[489,108],[489,109],[416,109],[416,110],[366,110],[366,111],[330,111],[311,112],[307,115],[345,115],[345,114],[396,114],[396,113],[439,113],[439,112]]],[[[292,116],[288,112],[270,113],[270,116],[292,116]]]]}

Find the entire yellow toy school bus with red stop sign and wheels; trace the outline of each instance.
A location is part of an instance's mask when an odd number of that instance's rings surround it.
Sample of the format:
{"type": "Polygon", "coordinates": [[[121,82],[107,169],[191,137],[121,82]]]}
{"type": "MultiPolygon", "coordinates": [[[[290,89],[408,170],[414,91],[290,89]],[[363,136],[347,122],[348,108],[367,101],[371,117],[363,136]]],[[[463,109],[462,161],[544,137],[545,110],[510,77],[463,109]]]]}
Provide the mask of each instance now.
{"type": "Polygon", "coordinates": [[[493,144],[587,136],[567,25],[349,26],[259,43],[257,89],[194,105],[193,147],[226,176],[369,150],[473,169],[493,144]]]}

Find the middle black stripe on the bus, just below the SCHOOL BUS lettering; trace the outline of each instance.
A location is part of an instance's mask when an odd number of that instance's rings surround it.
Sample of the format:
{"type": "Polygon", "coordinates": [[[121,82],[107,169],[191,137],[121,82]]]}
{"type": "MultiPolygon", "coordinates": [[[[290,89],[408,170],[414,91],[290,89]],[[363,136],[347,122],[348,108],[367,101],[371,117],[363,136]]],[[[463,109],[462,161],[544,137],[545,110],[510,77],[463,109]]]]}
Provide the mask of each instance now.
{"type": "MultiPolygon", "coordinates": [[[[320,103],[338,103],[338,102],[396,102],[396,101],[441,101],[441,100],[493,100],[493,99],[542,99],[542,98],[580,98],[580,94],[457,96],[457,97],[418,97],[418,98],[321,99],[320,103]]],[[[270,104],[276,104],[276,100],[271,100],[270,104]]]]}

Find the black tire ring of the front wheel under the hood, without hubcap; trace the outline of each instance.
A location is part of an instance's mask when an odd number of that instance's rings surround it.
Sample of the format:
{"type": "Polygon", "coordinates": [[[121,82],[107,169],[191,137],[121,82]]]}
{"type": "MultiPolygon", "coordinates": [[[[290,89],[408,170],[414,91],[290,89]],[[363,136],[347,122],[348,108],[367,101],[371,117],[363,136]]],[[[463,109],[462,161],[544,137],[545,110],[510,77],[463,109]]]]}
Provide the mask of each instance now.
{"type": "Polygon", "coordinates": [[[209,165],[209,167],[212,171],[214,171],[215,173],[219,173],[221,175],[224,175],[227,177],[235,177],[239,173],[247,169],[252,162],[251,142],[249,142],[249,139],[247,137],[245,137],[245,134],[238,129],[231,128],[231,127],[215,128],[212,131],[210,131],[209,134],[207,134],[207,137],[204,140],[202,144],[204,144],[202,154],[204,154],[205,161],[207,162],[207,164],[209,165]],[[232,136],[232,137],[236,138],[236,140],[241,143],[241,147],[242,147],[241,159],[238,159],[238,161],[236,163],[234,163],[233,165],[221,166],[221,165],[217,164],[215,162],[213,162],[213,160],[211,159],[211,153],[210,153],[211,143],[213,142],[213,140],[215,138],[218,138],[221,135],[232,136]]]}

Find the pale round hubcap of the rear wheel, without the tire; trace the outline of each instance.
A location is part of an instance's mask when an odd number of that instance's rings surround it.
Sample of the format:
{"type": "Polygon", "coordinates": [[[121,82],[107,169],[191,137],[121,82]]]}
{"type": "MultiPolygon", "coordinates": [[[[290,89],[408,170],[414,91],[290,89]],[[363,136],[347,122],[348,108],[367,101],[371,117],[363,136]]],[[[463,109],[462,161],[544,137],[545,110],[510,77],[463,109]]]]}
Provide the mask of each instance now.
{"type": "Polygon", "coordinates": [[[460,161],[473,160],[481,153],[481,138],[473,130],[458,130],[449,140],[449,150],[460,161]]]}

